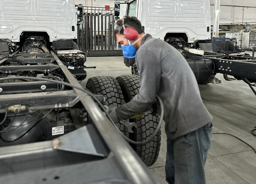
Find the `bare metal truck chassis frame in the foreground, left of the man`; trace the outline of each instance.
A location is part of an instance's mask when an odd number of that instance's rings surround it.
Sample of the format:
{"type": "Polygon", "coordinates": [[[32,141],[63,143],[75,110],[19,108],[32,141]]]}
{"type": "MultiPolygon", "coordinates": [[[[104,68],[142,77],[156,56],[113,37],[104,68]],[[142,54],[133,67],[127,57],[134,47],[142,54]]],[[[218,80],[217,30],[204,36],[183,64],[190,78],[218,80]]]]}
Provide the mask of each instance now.
{"type": "MultiPolygon", "coordinates": [[[[17,52],[12,56],[15,54],[17,52]]],[[[51,73],[58,69],[65,76],[67,84],[82,88],[65,63],[52,51],[51,55],[53,60],[50,65],[0,66],[0,70],[6,70],[9,74],[13,70],[51,73]],[[51,66],[52,63],[55,65],[51,66]]],[[[0,61],[0,65],[4,60],[0,61]]],[[[17,78],[20,81],[22,77],[3,78],[17,78]]],[[[81,120],[79,113],[71,114],[76,128],[80,129],[69,134],[51,141],[1,147],[1,183],[157,183],[132,147],[85,92],[77,88],[58,91],[58,84],[45,81],[0,83],[0,88],[3,93],[0,98],[0,113],[14,104],[26,105],[31,111],[73,108],[79,104],[88,113],[87,123],[81,120]],[[41,89],[43,85],[46,86],[45,90],[41,89]],[[16,92],[18,94],[9,94],[16,92]]]]}

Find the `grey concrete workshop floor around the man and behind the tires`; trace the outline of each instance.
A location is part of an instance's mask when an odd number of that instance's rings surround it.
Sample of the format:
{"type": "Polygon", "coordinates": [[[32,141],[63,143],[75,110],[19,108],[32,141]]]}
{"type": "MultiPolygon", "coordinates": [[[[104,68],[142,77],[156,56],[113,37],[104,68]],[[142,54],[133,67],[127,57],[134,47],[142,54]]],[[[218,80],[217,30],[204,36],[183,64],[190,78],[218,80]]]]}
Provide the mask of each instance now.
{"type": "MultiPolygon", "coordinates": [[[[131,74],[131,68],[124,65],[123,57],[88,57],[86,81],[94,76],[113,76],[131,74]]],[[[225,132],[244,140],[256,148],[256,137],[251,129],[256,126],[256,97],[247,84],[242,81],[225,81],[223,75],[217,74],[221,84],[199,85],[204,105],[212,114],[213,133],[225,132]]],[[[162,143],[156,163],[150,171],[161,184],[165,181],[166,135],[162,124],[162,143]]],[[[256,154],[248,145],[235,137],[213,134],[212,145],[208,151],[205,165],[208,184],[255,184],[256,154]]]]}

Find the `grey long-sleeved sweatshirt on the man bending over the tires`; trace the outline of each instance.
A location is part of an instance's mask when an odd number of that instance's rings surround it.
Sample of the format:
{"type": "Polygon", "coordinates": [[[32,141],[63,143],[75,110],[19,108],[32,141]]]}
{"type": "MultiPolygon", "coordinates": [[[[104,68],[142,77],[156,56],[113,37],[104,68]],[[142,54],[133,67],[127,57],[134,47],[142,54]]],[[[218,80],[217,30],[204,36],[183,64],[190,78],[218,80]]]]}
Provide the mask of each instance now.
{"type": "Polygon", "coordinates": [[[136,53],[136,63],[140,92],[129,103],[116,108],[117,117],[125,120],[144,112],[158,95],[164,102],[165,133],[171,139],[212,121],[196,77],[178,50],[147,34],[136,53]]]}

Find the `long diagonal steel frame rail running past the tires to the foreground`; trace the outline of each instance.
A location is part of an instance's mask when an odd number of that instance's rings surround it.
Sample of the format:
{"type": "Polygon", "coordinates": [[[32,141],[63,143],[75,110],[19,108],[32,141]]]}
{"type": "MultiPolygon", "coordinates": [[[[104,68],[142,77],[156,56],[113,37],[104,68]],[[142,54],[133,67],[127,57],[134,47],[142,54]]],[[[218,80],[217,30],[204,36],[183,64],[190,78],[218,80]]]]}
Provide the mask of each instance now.
{"type": "MultiPolygon", "coordinates": [[[[76,78],[70,72],[68,72],[68,69],[63,65],[54,52],[51,51],[51,53],[56,62],[59,64],[63,73],[66,75],[68,82],[82,88],[82,86],[77,82],[76,78]]],[[[75,88],[74,91],[80,98],[81,103],[92,118],[92,121],[108,145],[110,151],[114,154],[128,180],[134,184],[158,183],[156,178],[148,170],[147,166],[142,162],[137,153],[119,134],[116,128],[92,100],[92,98],[79,89],[75,88]]]]}

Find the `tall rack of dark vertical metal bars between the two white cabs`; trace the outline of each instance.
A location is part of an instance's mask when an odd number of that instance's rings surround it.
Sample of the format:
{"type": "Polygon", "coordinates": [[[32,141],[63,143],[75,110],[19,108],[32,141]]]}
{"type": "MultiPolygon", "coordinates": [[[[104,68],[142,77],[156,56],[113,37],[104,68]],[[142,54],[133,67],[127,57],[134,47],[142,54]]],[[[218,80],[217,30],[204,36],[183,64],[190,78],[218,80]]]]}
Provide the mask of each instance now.
{"type": "Polygon", "coordinates": [[[80,50],[114,50],[114,8],[83,7],[83,24],[77,26],[80,50]]]}

